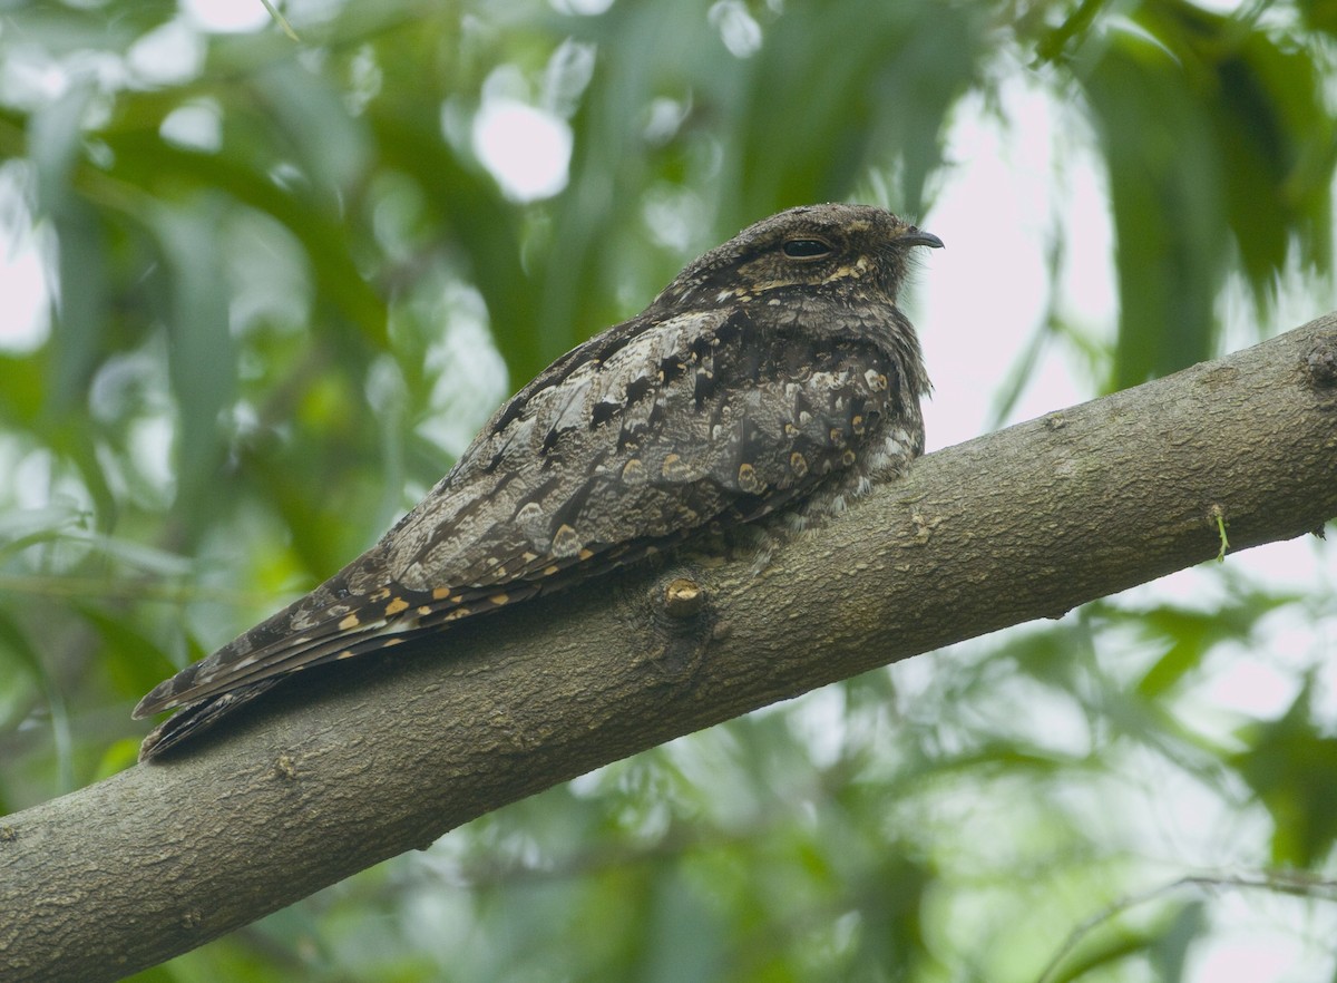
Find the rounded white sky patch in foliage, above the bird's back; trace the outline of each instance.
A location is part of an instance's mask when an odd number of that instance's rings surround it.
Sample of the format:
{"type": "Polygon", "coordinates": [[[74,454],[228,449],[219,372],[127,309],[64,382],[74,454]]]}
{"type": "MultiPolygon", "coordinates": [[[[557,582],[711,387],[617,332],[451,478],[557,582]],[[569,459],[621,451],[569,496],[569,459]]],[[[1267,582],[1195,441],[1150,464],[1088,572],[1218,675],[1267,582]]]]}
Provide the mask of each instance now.
{"type": "Polygon", "coordinates": [[[512,201],[551,198],[567,186],[571,127],[525,103],[491,96],[473,119],[473,152],[512,201]]]}

